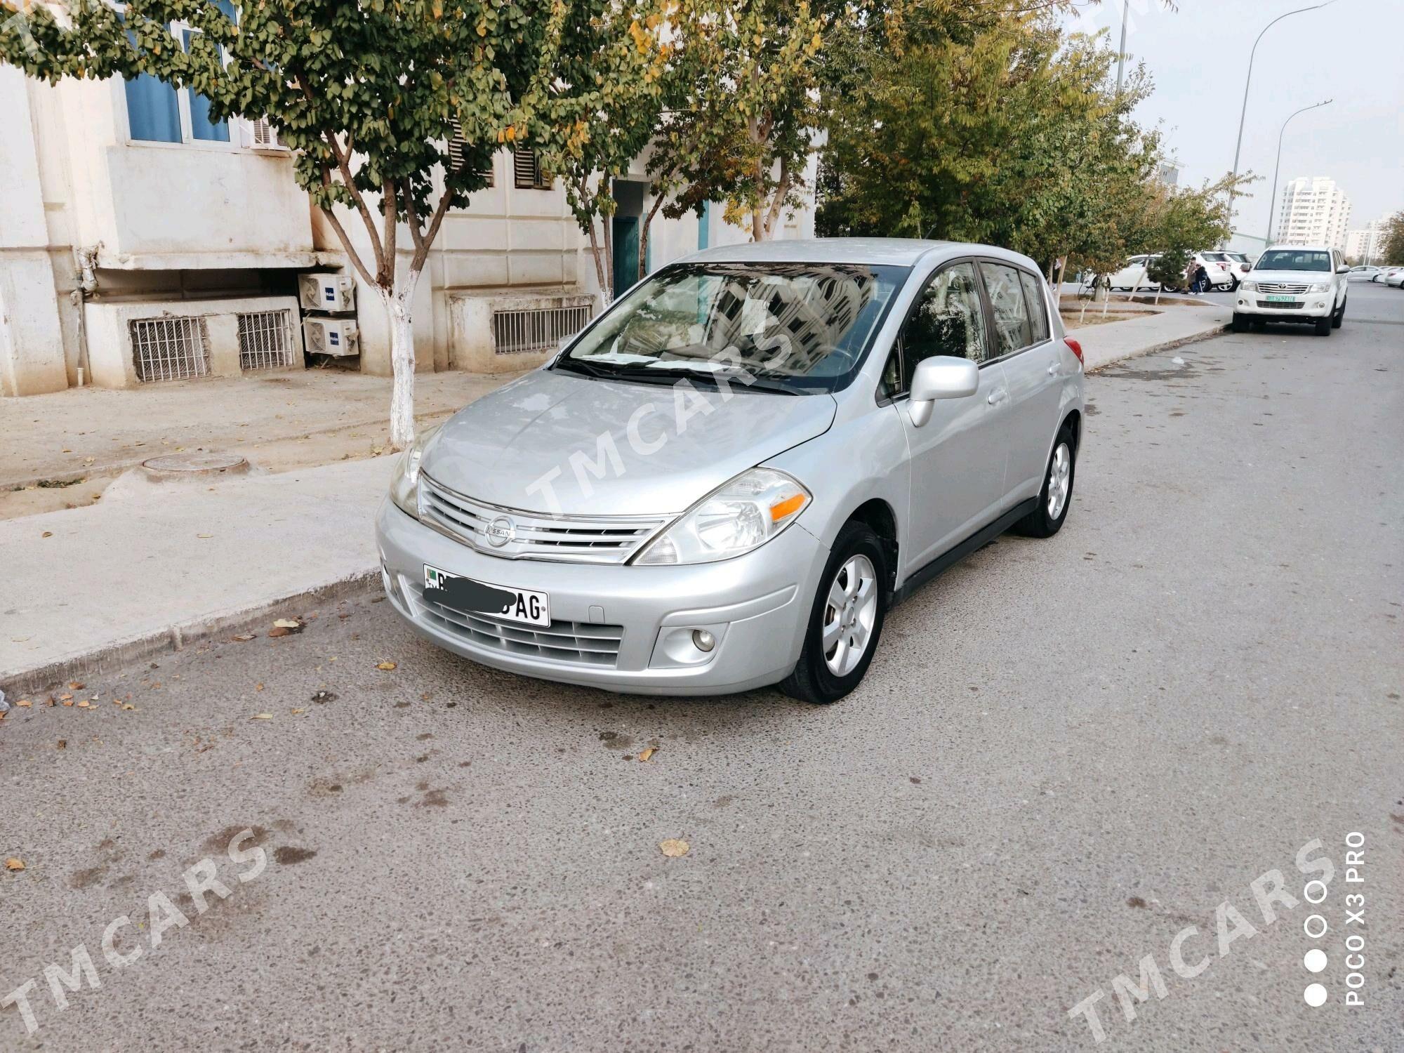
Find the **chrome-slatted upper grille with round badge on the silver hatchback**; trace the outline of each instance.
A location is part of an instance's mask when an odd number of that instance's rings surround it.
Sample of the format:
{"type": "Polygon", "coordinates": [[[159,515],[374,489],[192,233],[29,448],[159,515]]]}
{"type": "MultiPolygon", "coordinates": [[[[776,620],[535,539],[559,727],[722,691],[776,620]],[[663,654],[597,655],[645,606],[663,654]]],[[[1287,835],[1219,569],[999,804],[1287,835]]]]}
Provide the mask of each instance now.
{"type": "Polygon", "coordinates": [[[562,563],[623,563],[671,517],[550,517],[524,512],[475,501],[421,472],[420,518],[489,556],[562,563]],[[497,536],[490,536],[490,532],[497,536]],[[493,543],[498,539],[500,543],[493,543]]]}

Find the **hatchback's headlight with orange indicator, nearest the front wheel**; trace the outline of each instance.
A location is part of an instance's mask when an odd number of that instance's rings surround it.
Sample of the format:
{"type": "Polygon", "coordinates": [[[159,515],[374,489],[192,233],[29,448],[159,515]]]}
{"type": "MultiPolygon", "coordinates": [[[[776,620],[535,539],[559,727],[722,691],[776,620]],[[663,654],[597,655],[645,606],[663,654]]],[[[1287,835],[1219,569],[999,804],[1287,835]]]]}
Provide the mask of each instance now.
{"type": "Polygon", "coordinates": [[[678,517],[635,563],[715,563],[740,556],[795,522],[810,500],[809,490],[783,472],[753,468],[678,517]]]}

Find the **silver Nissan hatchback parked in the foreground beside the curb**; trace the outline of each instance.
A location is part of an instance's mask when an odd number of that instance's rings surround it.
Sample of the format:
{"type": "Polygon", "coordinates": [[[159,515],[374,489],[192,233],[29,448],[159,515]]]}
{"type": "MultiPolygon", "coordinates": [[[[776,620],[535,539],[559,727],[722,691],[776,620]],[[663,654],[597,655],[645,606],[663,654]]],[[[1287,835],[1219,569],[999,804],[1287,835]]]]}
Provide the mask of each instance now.
{"type": "Polygon", "coordinates": [[[378,514],[386,594],[500,670],[834,702],[897,600],[1063,525],[1081,359],[1004,249],[698,253],[418,437],[378,514]]]}

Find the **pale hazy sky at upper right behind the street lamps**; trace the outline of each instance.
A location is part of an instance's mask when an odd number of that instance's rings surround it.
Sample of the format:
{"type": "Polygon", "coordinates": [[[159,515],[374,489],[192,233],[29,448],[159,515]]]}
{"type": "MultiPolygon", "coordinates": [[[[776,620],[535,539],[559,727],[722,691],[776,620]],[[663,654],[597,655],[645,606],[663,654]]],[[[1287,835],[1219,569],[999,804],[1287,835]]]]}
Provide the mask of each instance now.
{"type": "MultiPolygon", "coordinates": [[[[1279,14],[1320,0],[1130,0],[1127,63],[1144,62],[1155,91],[1137,119],[1160,125],[1179,161],[1179,183],[1233,170],[1248,53],[1279,14]]],[[[1108,28],[1119,44],[1125,0],[1080,0],[1070,18],[1108,28]]],[[[1404,209],[1404,0],[1335,0],[1283,18],[1262,37],[1252,67],[1240,171],[1261,176],[1236,208],[1234,229],[1262,237],[1283,119],[1282,184],[1330,176],[1351,198],[1351,227],[1404,209]]]]}

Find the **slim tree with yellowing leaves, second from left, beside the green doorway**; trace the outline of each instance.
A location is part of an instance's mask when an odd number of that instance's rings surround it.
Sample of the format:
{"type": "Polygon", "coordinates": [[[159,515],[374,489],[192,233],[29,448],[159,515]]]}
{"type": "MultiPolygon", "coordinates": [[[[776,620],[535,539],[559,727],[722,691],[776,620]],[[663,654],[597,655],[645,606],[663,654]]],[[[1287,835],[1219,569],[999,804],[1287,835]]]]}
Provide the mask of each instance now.
{"type": "MultiPolygon", "coordinates": [[[[583,90],[553,107],[539,139],[543,167],[564,181],[571,213],[590,239],[605,305],[615,296],[614,181],[628,173],[658,126],[671,53],[661,39],[664,27],[664,10],[654,0],[622,0],[573,13],[566,27],[570,46],[556,79],[583,90]]],[[[646,241],[640,241],[640,277],[644,250],[646,241]]]]}

